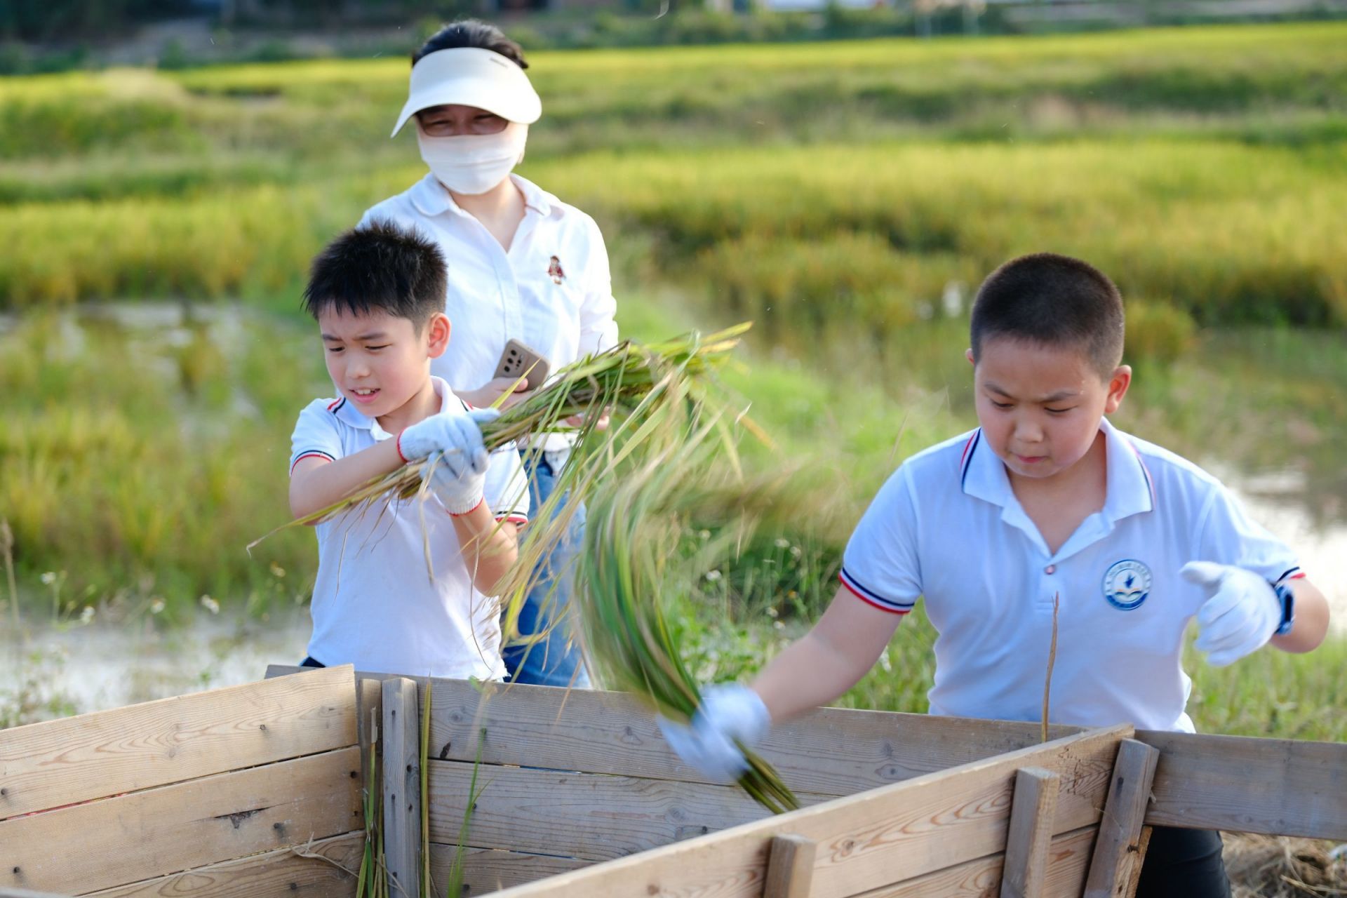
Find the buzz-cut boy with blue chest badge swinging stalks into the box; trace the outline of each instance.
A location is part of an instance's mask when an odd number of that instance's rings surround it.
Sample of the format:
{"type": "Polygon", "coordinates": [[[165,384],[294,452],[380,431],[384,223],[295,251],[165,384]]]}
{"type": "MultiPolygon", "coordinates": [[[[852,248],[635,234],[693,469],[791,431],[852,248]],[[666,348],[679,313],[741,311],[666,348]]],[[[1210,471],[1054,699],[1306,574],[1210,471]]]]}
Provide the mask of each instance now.
{"type": "MultiPolygon", "coordinates": [[[[1309,652],[1328,605],[1281,541],[1210,474],[1113,427],[1131,369],[1123,307],[1083,261],[1006,263],[973,307],[981,427],[889,478],[843,555],[823,618],[752,688],[707,691],[672,746],[734,778],[772,722],[851,688],[919,596],[939,635],[931,714],[1041,716],[1060,598],[1051,719],[1192,731],[1184,630],[1227,665],[1272,644],[1309,652]]],[[[1228,895],[1218,833],[1154,828],[1138,894],[1228,895]]]]}

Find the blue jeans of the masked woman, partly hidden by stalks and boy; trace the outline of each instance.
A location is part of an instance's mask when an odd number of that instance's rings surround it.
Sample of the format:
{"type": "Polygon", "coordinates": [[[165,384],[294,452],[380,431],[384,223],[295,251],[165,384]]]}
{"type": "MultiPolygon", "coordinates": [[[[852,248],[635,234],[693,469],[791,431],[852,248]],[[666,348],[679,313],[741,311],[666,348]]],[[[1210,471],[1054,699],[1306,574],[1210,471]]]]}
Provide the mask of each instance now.
{"type": "MultiPolygon", "coordinates": [[[[521,452],[524,470],[528,474],[528,498],[533,522],[541,521],[543,504],[556,486],[556,473],[546,456],[536,451],[521,452]]],[[[590,688],[585,657],[571,631],[571,575],[574,557],[585,543],[585,506],[571,518],[564,537],[552,549],[543,564],[543,571],[524,600],[519,614],[520,635],[546,631],[537,642],[528,645],[505,645],[501,654],[511,683],[532,683],[548,687],[590,688]]]]}

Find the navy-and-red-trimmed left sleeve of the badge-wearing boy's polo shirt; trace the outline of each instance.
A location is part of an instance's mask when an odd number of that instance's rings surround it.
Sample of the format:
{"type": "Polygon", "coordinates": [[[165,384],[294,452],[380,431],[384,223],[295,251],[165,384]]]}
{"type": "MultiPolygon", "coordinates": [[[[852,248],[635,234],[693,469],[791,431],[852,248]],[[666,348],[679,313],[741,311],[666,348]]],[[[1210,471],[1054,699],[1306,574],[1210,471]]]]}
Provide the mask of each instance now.
{"type": "Polygon", "coordinates": [[[908,469],[880,487],[846,544],[842,586],[858,599],[893,614],[907,614],[921,595],[917,516],[908,469]]]}

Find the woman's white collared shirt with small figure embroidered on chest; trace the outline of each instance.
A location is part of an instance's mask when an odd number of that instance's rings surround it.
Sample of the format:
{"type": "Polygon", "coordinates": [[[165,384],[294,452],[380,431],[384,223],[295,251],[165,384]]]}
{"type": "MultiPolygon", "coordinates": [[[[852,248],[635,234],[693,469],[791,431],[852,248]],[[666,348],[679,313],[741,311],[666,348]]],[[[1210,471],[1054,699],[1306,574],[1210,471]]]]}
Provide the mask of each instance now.
{"type": "MultiPolygon", "coordinates": [[[[546,355],[554,372],[617,343],[617,302],[598,225],[532,182],[511,178],[524,195],[524,219],[508,252],[430,174],[360,219],[415,228],[443,250],[453,330],[449,351],[431,370],[455,390],[492,380],[509,339],[546,355]]],[[[546,448],[568,444],[568,436],[554,434],[546,448]]]]}

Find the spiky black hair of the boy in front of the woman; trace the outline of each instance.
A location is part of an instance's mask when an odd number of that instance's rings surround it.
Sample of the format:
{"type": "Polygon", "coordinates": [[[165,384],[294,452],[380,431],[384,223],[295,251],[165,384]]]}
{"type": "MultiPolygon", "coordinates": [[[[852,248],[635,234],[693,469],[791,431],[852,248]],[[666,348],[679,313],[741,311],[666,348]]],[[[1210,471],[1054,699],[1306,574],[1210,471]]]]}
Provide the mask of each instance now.
{"type": "Polygon", "coordinates": [[[391,221],[356,228],[314,256],[304,308],[314,318],[329,308],[408,318],[419,331],[445,311],[449,276],[432,241],[391,221]]]}

